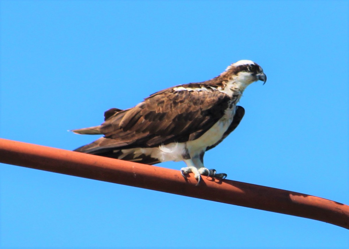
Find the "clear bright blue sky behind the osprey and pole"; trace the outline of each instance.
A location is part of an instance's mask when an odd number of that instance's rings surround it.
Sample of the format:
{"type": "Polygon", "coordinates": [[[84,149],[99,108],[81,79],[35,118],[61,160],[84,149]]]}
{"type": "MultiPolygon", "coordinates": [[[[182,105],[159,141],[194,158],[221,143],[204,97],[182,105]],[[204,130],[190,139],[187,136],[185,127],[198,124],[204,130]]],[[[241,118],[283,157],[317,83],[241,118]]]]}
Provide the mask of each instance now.
{"type": "MultiPolygon", "coordinates": [[[[1,138],[73,150],[158,90],[250,59],[268,81],[205,164],[349,204],[348,1],[1,1],[1,138]]],[[[179,169],[184,163],[158,166],[179,169]]],[[[324,222],[0,165],[1,248],[347,248],[324,222]]]]}

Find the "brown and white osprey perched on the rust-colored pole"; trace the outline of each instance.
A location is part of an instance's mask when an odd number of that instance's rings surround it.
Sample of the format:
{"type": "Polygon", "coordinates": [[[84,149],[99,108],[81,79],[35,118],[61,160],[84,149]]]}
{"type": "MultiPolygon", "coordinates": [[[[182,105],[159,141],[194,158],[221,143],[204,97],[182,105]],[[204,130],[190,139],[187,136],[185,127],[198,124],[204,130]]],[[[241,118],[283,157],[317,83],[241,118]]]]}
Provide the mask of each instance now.
{"type": "Polygon", "coordinates": [[[258,80],[267,80],[262,68],[240,60],[211,80],[164,89],[126,110],[111,108],[102,125],[72,130],[104,135],[75,151],[150,165],[184,161],[181,174],[194,173],[198,184],[200,175],[225,178],[203,165],[203,155],[239,125],[245,110],[236,104],[258,80]]]}

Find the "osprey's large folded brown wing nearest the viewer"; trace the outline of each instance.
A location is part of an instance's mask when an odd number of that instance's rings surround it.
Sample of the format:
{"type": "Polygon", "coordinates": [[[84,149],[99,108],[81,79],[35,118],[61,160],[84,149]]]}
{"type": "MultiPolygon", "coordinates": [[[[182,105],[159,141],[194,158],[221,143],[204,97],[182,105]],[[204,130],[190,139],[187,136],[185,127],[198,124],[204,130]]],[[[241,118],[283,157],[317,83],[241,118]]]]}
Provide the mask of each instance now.
{"type": "Polygon", "coordinates": [[[107,115],[100,127],[105,137],[77,151],[99,154],[194,140],[224,115],[229,100],[228,95],[214,90],[163,90],[131,109],[107,115]]]}

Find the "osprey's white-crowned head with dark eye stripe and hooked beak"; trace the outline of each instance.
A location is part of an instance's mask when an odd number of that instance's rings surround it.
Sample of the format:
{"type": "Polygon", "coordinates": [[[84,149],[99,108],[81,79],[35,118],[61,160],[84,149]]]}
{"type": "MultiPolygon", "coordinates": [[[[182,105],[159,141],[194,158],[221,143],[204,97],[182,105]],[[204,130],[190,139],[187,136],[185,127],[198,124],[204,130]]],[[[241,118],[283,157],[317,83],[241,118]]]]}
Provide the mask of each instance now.
{"type": "Polygon", "coordinates": [[[263,81],[264,85],[267,81],[267,76],[263,73],[263,69],[251,60],[239,60],[232,63],[221,75],[229,76],[235,84],[238,84],[243,89],[252,82],[263,81]]]}

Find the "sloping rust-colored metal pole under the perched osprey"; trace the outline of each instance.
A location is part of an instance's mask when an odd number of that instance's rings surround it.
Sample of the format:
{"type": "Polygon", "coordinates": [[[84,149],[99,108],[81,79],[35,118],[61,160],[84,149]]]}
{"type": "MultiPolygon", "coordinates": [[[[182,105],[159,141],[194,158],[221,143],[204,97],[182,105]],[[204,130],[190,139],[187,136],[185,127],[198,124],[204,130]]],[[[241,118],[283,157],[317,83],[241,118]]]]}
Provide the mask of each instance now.
{"type": "Polygon", "coordinates": [[[199,186],[178,170],[0,139],[0,162],[114,182],[328,222],[349,229],[349,206],[244,182],[203,177],[199,186]]]}

